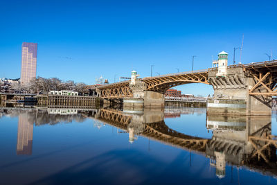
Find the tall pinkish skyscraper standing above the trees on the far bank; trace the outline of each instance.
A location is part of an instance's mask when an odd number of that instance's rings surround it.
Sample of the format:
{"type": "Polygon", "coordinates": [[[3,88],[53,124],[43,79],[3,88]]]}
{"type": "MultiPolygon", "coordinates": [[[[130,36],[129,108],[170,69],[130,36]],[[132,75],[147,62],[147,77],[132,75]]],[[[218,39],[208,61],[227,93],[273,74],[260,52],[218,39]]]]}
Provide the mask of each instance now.
{"type": "Polygon", "coordinates": [[[30,82],[37,76],[37,44],[30,42],[22,43],[21,56],[21,84],[30,82]]]}

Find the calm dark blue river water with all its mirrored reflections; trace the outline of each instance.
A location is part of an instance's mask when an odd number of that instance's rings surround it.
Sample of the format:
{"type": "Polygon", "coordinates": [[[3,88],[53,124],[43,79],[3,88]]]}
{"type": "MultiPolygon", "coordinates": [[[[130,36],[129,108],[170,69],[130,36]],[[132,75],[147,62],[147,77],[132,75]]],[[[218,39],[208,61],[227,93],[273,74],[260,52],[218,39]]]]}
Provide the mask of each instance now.
{"type": "Polygon", "coordinates": [[[272,116],[1,107],[0,184],[277,184],[272,116]]]}

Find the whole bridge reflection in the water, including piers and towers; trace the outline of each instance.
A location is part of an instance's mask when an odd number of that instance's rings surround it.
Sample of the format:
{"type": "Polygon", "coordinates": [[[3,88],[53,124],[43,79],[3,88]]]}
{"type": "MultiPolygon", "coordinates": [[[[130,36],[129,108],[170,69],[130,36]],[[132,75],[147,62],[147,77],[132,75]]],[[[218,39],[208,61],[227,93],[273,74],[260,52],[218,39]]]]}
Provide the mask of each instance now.
{"type": "Polygon", "coordinates": [[[144,113],[100,109],[96,118],[128,132],[130,143],[141,135],[205,155],[218,177],[224,177],[226,163],[277,176],[277,138],[271,135],[271,116],[208,116],[206,127],[213,136],[203,139],[170,129],[161,111],[144,113]]]}

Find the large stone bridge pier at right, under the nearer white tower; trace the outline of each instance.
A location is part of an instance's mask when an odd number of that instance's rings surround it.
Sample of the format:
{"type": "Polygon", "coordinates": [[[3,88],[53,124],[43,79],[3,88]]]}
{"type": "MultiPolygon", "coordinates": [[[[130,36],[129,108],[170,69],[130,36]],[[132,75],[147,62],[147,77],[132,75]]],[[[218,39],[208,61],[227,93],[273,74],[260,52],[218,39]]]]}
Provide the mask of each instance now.
{"type": "Polygon", "coordinates": [[[208,99],[207,114],[271,115],[271,97],[249,95],[255,81],[242,67],[227,69],[226,76],[216,73],[208,71],[215,93],[208,99]]]}

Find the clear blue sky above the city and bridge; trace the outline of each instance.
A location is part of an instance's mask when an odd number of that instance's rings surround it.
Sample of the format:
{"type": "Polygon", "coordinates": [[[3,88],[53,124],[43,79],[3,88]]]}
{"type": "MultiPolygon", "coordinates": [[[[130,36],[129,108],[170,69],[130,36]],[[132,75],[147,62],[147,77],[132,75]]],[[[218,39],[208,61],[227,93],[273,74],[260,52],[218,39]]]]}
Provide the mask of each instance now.
{"type": "MultiPolygon", "coordinates": [[[[94,84],[211,67],[244,34],[242,63],[277,55],[277,1],[1,1],[0,77],[19,78],[22,42],[36,42],[37,76],[94,84]]],[[[236,52],[237,61],[240,51],[236,52]]],[[[184,94],[213,94],[182,85],[184,94]]]]}

